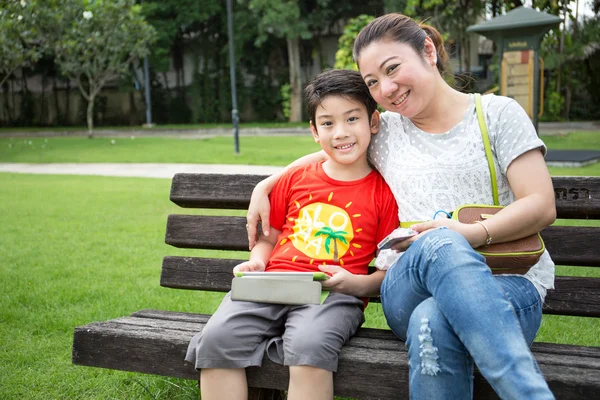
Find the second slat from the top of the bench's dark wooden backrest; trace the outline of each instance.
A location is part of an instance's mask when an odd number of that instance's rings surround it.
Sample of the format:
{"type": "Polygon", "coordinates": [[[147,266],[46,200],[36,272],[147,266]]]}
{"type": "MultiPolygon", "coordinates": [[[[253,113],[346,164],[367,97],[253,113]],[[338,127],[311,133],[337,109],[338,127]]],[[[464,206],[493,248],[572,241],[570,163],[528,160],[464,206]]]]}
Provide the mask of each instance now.
{"type": "MultiPolygon", "coordinates": [[[[551,226],[542,231],[557,265],[600,266],[600,228],[551,226]]],[[[180,248],[248,250],[246,219],[205,215],[169,215],[167,244],[180,248]]]]}

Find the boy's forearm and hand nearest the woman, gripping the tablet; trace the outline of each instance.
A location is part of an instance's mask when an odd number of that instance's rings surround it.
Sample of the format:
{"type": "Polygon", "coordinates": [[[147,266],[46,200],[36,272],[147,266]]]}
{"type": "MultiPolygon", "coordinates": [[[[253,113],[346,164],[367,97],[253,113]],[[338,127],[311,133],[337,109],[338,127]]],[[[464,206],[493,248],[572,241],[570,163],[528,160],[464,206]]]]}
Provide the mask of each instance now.
{"type": "Polygon", "coordinates": [[[354,275],[338,265],[320,265],[319,269],[332,274],[331,278],[321,282],[324,288],[356,297],[379,296],[381,282],[385,276],[385,271],[354,275]]]}

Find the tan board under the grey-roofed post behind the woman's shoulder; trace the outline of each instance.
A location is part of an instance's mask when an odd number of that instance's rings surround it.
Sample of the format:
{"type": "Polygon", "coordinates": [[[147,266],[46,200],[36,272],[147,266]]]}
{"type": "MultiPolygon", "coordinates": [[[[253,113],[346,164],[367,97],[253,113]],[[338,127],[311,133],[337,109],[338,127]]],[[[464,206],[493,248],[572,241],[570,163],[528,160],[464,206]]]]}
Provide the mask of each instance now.
{"type": "Polygon", "coordinates": [[[534,50],[505,51],[500,93],[517,101],[533,118],[534,50]]]}

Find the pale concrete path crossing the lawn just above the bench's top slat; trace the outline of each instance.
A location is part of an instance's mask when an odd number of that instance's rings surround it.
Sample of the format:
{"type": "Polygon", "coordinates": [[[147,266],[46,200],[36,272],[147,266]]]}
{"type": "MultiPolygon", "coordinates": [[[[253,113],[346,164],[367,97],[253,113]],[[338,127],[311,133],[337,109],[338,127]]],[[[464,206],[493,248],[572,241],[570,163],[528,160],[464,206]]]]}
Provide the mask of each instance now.
{"type": "Polygon", "coordinates": [[[1,172],[173,178],[179,172],[270,175],[283,167],[229,164],[20,164],[0,163],[1,172]]]}

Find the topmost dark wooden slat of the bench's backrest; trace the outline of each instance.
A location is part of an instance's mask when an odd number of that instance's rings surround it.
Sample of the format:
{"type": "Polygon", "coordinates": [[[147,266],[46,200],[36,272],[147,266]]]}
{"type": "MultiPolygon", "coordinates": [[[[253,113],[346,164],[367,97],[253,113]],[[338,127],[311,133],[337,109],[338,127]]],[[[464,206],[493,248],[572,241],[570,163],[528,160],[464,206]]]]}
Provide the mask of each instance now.
{"type": "MultiPolygon", "coordinates": [[[[267,175],[175,174],[171,201],[186,208],[248,208],[254,186],[267,175]]],[[[559,218],[600,218],[600,177],[553,177],[559,218]]]]}

